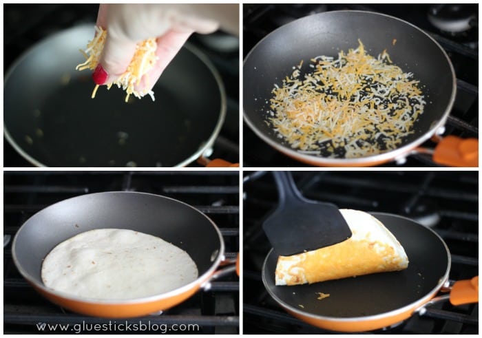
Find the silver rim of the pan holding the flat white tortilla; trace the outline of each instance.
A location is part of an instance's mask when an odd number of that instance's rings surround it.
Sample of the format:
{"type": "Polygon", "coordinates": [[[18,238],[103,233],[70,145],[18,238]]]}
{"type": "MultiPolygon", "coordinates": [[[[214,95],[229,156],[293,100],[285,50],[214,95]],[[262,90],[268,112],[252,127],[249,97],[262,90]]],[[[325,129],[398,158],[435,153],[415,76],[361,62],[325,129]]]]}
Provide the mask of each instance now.
{"type": "Polygon", "coordinates": [[[224,260],[224,251],[225,251],[224,239],[222,237],[222,233],[221,233],[220,229],[218,228],[216,223],[214,223],[213,220],[211,220],[211,218],[209,218],[207,215],[205,215],[205,213],[202,213],[201,211],[199,211],[195,207],[192,207],[191,205],[189,205],[185,202],[182,202],[180,200],[176,200],[174,198],[169,198],[167,196],[156,195],[154,193],[143,193],[143,192],[138,192],[138,191],[103,191],[103,192],[98,192],[98,193],[86,193],[84,195],[74,196],[72,198],[67,198],[65,200],[61,200],[61,201],[56,202],[54,204],[50,204],[48,207],[45,207],[41,211],[38,211],[37,213],[34,213],[34,215],[32,215],[30,218],[28,218],[28,220],[25,220],[25,222],[23,222],[22,226],[19,228],[19,230],[15,234],[15,237],[12,241],[12,258],[13,258],[15,266],[19,270],[19,273],[25,279],[27,279],[27,281],[30,284],[32,284],[35,288],[39,288],[42,291],[44,291],[45,293],[48,293],[50,295],[55,295],[57,297],[61,297],[63,299],[68,299],[68,300],[72,300],[72,301],[76,301],[76,302],[83,302],[83,303],[89,303],[89,304],[101,304],[101,305],[127,305],[127,304],[143,304],[143,303],[149,303],[149,302],[158,302],[160,300],[175,297],[175,296],[181,295],[182,293],[185,293],[187,291],[191,291],[194,288],[200,287],[203,282],[207,281],[209,279],[209,277],[211,275],[213,275],[213,273],[216,271],[216,269],[220,265],[220,262],[222,260],[224,260]],[[50,207],[54,207],[54,206],[56,206],[56,204],[59,204],[59,203],[62,203],[62,202],[72,200],[73,198],[78,198],[78,197],[83,197],[83,196],[93,196],[93,195],[111,195],[111,194],[135,194],[135,195],[147,195],[147,196],[152,196],[152,197],[155,197],[155,198],[165,198],[167,200],[171,200],[171,201],[174,201],[174,202],[178,202],[180,204],[184,204],[186,207],[189,207],[190,209],[193,209],[194,211],[196,211],[197,213],[199,213],[200,215],[205,217],[209,221],[209,223],[213,226],[214,231],[216,231],[216,233],[218,234],[218,237],[219,237],[219,240],[220,240],[220,247],[218,249],[219,252],[218,252],[218,255],[216,257],[216,260],[213,260],[213,262],[211,263],[211,267],[209,269],[207,269],[207,271],[205,273],[198,276],[198,278],[196,278],[193,282],[190,282],[189,284],[185,284],[184,286],[181,286],[180,288],[176,288],[176,289],[174,289],[172,291],[168,291],[166,293],[161,293],[161,294],[158,294],[158,295],[152,295],[152,296],[148,296],[148,297],[139,297],[139,298],[134,298],[134,299],[121,299],[121,300],[112,300],[111,299],[111,300],[109,300],[109,299],[96,299],[96,298],[88,298],[88,297],[78,297],[78,296],[70,295],[69,293],[64,293],[64,292],[61,292],[61,291],[55,291],[52,288],[48,288],[45,285],[36,282],[34,280],[34,278],[32,277],[32,275],[30,275],[30,273],[27,273],[25,271],[25,269],[23,269],[23,266],[21,266],[21,264],[17,260],[17,253],[16,253],[15,249],[17,247],[17,239],[18,239],[19,233],[21,233],[24,224],[27,223],[28,220],[33,218],[38,213],[41,213],[42,211],[44,211],[45,209],[48,209],[50,207]]]}

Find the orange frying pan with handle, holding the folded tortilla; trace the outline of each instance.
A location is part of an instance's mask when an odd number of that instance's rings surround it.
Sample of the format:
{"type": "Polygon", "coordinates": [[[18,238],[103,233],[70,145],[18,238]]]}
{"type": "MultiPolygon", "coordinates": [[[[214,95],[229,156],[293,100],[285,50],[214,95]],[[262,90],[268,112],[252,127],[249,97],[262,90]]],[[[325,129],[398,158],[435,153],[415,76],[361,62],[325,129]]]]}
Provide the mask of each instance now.
{"type": "MultiPolygon", "coordinates": [[[[272,250],[262,268],[262,280],[271,297],[309,324],[344,332],[385,328],[414,313],[423,314],[425,306],[433,302],[430,299],[448,282],[450,252],[447,245],[437,233],[408,218],[388,213],[372,215],[404,247],[409,260],[406,270],[298,286],[275,286],[277,255],[272,250]],[[317,293],[330,297],[319,300],[317,293]]],[[[478,277],[452,286],[452,304],[478,301],[478,277]]]]}

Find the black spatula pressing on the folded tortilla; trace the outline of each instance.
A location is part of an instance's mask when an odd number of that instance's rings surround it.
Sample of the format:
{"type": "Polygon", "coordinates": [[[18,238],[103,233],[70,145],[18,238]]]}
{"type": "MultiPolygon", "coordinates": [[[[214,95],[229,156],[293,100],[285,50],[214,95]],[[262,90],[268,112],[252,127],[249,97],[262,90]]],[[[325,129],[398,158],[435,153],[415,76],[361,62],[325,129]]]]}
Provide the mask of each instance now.
{"type": "Polygon", "coordinates": [[[343,242],[351,231],[335,204],[307,200],[289,171],[273,171],[279,193],[277,209],[263,229],[278,255],[295,255],[343,242]]]}

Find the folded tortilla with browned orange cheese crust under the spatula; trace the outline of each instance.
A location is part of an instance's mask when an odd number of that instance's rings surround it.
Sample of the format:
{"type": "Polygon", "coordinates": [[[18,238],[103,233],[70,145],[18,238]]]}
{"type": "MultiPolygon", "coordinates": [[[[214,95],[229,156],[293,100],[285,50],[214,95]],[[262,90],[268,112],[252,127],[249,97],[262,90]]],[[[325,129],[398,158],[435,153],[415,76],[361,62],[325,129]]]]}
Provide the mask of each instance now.
{"type": "Polygon", "coordinates": [[[368,213],[340,209],[352,236],[341,243],[291,256],[280,256],[276,285],[323,282],[408,267],[404,248],[384,224],[368,213]]]}

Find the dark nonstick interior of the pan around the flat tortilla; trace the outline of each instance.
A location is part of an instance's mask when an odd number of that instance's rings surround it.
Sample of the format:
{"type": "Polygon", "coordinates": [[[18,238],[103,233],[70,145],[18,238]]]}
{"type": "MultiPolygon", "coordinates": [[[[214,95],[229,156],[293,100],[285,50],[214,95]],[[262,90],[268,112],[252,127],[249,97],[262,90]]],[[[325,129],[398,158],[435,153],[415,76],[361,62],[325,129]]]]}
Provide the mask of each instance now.
{"type": "Polygon", "coordinates": [[[42,284],[43,258],[57,244],[91,229],[130,229],[187,251],[206,273],[224,253],[216,225],[192,207],[149,193],[107,192],[70,198],[32,216],[17,233],[12,253],[19,270],[42,284]]]}

